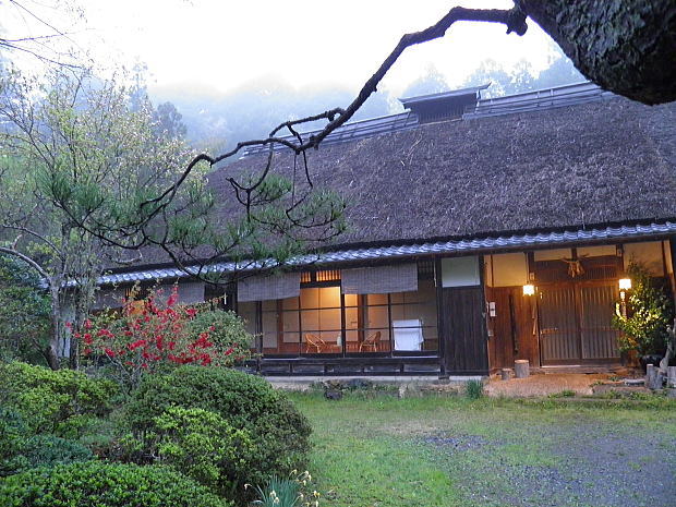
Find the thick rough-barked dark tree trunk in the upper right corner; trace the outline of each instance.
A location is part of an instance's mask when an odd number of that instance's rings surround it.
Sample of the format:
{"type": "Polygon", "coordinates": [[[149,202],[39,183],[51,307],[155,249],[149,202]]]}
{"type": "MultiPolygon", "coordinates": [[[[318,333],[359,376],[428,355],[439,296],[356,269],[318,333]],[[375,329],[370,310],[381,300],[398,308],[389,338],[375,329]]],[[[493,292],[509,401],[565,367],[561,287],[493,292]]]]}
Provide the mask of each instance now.
{"type": "Polygon", "coordinates": [[[643,104],[676,100],[674,0],[520,0],[588,79],[643,104]]]}

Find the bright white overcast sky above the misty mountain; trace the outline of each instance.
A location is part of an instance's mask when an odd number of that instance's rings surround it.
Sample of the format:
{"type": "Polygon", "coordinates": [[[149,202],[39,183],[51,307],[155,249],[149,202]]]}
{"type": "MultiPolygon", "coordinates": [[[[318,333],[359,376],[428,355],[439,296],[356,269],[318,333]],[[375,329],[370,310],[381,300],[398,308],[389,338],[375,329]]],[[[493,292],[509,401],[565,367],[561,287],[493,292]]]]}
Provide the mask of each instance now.
{"type": "MultiPolygon", "coordinates": [[[[85,21],[72,39],[97,61],[146,63],[152,88],[227,92],[265,77],[297,88],[357,89],[403,33],[425,28],[458,3],[511,7],[507,0],[82,0],[85,21]]],[[[383,87],[397,95],[430,65],[452,86],[486,58],[506,65],[526,59],[542,69],[551,58],[547,40],[532,22],[523,37],[497,24],[457,24],[444,39],[407,50],[383,87]]]]}

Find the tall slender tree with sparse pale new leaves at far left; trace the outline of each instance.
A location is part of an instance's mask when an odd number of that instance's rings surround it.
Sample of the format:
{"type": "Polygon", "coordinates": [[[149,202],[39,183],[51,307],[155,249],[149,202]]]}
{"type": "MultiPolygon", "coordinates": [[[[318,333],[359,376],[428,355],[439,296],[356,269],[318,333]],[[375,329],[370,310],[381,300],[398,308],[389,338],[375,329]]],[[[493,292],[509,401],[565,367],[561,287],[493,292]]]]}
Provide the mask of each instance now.
{"type": "MultiPolygon", "coordinates": [[[[23,261],[47,285],[52,367],[64,324],[80,327],[86,318],[105,263],[129,257],[82,226],[129,221],[130,208],[173,181],[192,156],[181,140],[154,133],[149,102],[131,110],[130,93],[121,80],[63,69],[44,82],[15,71],[0,82],[0,232],[5,239],[0,252],[23,261]],[[114,206],[106,206],[112,201],[114,206]]],[[[200,184],[198,173],[186,192],[193,183],[200,184]]],[[[71,360],[76,357],[73,348],[71,360]]]]}

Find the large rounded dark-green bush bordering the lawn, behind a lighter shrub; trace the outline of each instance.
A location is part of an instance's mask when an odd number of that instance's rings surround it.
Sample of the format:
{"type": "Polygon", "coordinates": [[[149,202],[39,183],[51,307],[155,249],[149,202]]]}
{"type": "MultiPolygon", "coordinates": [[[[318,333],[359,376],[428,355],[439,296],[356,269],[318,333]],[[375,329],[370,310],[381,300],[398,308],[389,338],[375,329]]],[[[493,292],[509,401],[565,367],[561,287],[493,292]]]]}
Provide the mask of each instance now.
{"type": "MultiPolygon", "coordinates": [[[[240,450],[243,455],[237,457],[240,464],[229,463],[230,471],[222,472],[228,479],[238,481],[240,486],[244,482],[262,484],[273,474],[290,473],[304,462],[311,433],[307,420],[283,393],[276,391],[261,377],[229,369],[197,366],[182,366],[168,375],[148,376],[128,407],[129,423],[136,438],[146,442],[146,435],[157,432],[165,413],[172,415],[162,424],[168,424],[171,418],[191,417],[194,418],[191,424],[195,433],[203,433],[196,428],[197,421],[204,423],[208,415],[171,412],[171,407],[196,408],[218,414],[220,419],[216,423],[221,425],[224,438],[233,438],[228,426],[244,431],[237,437],[242,438],[240,450]],[[251,438],[251,448],[249,443],[243,444],[246,434],[251,438]],[[249,452],[254,456],[251,461],[249,452]],[[249,462],[252,462],[249,470],[242,470],[241,466],[249,462]],[[237,474],[228,475],[232,470],[237,470],[237,474]]],[[[171,438],[178,442],[188,436],[174,434],[171,438]]],[[[149,454],[148,447],[152,446],[146,446],[146,454],[149,454]]]]}

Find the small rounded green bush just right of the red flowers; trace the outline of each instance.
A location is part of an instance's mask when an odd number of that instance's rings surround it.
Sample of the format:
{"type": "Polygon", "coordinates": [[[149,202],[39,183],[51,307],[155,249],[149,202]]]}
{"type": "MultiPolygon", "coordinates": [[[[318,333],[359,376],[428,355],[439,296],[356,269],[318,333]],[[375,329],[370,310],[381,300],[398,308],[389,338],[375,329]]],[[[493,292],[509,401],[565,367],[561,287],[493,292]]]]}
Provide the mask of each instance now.
{"type": "Polygon", "coordinates": [[[244,328],[244,321],[234,312],[222,310],[206,310],[198,312],[186,325],[186,330],[193,340],[200,334],[209,330],[209,340],[216,343],[219,350],[231,350],[228,358],[230,364],[239,364],[251,358],[253,336],[244,328]]]}

